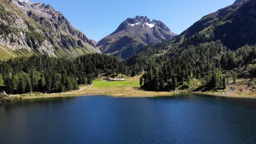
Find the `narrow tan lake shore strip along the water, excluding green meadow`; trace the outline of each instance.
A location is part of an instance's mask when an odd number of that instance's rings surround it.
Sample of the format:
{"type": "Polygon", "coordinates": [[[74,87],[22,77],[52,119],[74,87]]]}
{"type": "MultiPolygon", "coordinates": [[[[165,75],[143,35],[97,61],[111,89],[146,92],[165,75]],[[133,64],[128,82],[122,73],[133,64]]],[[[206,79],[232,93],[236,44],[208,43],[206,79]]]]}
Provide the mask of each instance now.
{"type": "MultiPolygon", "coordinates": [[[[120,87],[119,87],[120,88],[120,87]]],[[[141,97],[170,97],[175,94],[182,93],[193,93],[193,94],[206,94],[217,97],[230,97],[230,98],[256,98],[255,95],[236,95],[232,93],[214,93],[214,92],[154,92],[144,91],[138,87],[126,87],[122,90],[117,88],[104,89],[98,88],[96,85],[83,86],[78,91],[66,92],[66,93],[51,93],[51,94],[23,94],[23,95],[12,95],[11,97],[22,97],[22,99],[37,99],[37,98],[57,98],[57,97],[81,97],[90,95],[108,95],[110,97],[121,97],[121,98],[141,98],[141,97]]]]}

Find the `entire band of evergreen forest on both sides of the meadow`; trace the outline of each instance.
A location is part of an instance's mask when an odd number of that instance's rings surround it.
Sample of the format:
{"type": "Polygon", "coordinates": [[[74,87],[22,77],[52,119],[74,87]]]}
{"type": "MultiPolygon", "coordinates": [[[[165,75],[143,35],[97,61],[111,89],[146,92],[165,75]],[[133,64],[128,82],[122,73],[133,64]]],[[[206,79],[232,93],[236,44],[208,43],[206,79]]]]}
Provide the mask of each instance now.
{"type": "Polygon", "coordinates": [[[0,87],[8,94],[65,92],[91,85],[100,74],[135,76],[143,70],[140,83],[150,91],[189,88],[193,79],[206,89],[225,88],[227,79],[256,77],[256,45],[235,51],[218,40],[181,49],[166,45],[147,46],[127,61],[98,53],[73,61],[46,55],[12,58],[0,62],[0,87]]]}

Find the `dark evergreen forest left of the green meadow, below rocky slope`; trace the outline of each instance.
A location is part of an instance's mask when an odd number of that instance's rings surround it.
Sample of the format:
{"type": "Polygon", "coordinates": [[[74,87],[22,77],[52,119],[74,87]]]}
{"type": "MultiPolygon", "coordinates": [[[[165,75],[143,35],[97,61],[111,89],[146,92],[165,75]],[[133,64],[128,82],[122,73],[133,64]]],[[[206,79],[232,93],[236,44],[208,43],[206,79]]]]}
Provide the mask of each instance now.
{"type": "Polygon", "coordinates": [[[90,54],[74,61],[46,55],[17,57],[0,62],[0,87],[8,94],[65,92],[91,85],[99,74],[129,74],[119,59],[90,54]]]}

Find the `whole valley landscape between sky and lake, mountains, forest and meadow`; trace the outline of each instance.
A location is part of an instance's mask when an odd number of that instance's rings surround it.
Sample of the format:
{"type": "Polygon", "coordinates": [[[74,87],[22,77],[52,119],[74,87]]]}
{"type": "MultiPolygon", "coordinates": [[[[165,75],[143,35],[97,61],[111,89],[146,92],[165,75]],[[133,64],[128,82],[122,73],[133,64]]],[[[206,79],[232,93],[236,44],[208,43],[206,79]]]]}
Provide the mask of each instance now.
{"type": "Polygon", "coordinates": [[[179,35],[160,20],[127,18],[95,41],[51,5],[1,1],[1,91],[24,98],[173,93],[254,97],[255,4],[236,1],[179,35]],[[127,81],[106,82],[120,75],[127,81]]]}

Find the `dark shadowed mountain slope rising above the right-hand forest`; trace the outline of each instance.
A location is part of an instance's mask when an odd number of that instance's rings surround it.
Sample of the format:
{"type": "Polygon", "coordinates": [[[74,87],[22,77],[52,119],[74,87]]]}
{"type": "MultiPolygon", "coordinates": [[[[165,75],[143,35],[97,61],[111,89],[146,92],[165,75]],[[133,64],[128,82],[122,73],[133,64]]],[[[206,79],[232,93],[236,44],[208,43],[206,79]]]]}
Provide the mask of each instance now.
{"type": "Polygon", "coordinates": [[[228,49],[235,50],[246,44],[255,44],[255,3],[255,0],[236,0],[228,7],[203,16],[173,39],[172,46],[184,47],[220,40],[228,49]]]}

